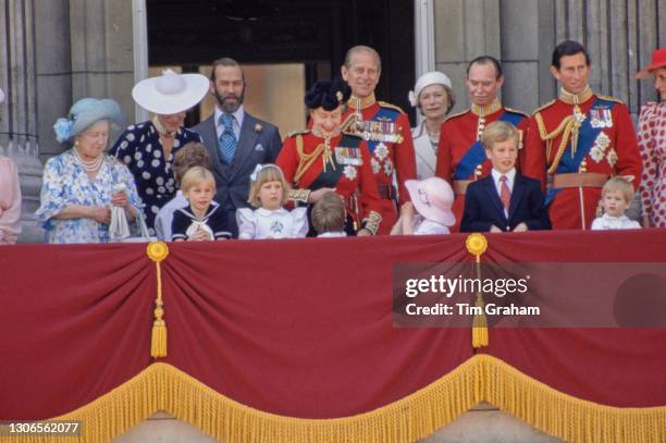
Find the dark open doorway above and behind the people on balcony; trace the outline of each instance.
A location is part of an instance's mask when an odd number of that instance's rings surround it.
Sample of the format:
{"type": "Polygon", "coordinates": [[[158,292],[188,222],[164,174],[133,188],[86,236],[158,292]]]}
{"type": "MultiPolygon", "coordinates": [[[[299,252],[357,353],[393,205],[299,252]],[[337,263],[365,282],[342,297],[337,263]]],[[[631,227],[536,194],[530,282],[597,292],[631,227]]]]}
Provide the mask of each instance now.
{"type": "MultiPolygon", "coordinates": [[[[303,63],[305,85],[340,73],[345,51],[382,56],[381,100],[410,112],[412,0],[147,0],[149,65],[195,71],[220,57],[242,64],[303,63]]],[[[198,116],[195,116],[198,120],[198,116]]]]}

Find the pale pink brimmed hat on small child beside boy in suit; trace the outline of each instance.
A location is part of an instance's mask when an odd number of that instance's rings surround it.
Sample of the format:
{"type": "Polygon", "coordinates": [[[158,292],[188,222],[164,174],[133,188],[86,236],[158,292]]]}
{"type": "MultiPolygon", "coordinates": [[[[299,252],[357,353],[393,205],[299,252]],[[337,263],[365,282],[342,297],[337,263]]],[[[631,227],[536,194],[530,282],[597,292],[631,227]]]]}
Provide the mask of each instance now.
{"type": "Polygon", "coordinates": [[[454,193],[451,185],[440,177],[429,177],[422,181],[407,180],[405,187],[409,192],[416,210],[428,220],[452,226],[456,218],[451,210],[454,193]]]}

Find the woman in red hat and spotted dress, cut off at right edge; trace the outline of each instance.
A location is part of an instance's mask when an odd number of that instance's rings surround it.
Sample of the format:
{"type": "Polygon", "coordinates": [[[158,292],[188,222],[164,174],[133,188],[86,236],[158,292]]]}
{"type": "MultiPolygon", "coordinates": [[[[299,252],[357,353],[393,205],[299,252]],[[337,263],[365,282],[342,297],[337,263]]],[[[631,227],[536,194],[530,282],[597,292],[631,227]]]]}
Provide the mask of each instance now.
{"type": "Polygon", "coordinates": [[[640,194],[643,226],[666,227],[666,48],[652,53],[652,63],[637,73],[637,78],[654,81],[659,102],[641,108],[638,141],[643,159],[640,194]]]}

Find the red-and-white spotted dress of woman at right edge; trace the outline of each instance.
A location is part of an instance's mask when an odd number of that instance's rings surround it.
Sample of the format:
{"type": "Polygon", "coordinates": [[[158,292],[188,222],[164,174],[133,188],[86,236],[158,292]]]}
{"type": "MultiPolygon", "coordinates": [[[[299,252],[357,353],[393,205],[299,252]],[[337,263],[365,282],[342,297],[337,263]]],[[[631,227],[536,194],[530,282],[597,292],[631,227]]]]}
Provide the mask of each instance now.
{"type": "Polygon", "coordinates": [[[641,108],[638,137],[643,159],[643,213],[650,214],[655,226],[666,227],[666,102],[641,108]]]}

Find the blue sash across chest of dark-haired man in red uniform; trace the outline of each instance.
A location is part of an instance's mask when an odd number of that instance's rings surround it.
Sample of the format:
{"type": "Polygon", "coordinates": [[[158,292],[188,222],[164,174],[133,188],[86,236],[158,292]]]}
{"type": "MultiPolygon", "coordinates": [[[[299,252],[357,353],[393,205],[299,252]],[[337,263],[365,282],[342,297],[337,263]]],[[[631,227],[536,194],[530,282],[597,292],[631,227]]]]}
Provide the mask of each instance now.
{"type": "MultiPolygon", "coordinates": [[[[585,120],[583,120],[583,122],[580,124],[580,128],[578,130],[578,146],[576,148],[576,153],[571,156],[571,140],[569,140],[569,144],[559,159],[559,164],[555,170],[556,174],[570,174],[579,172],[580,164],[584,158],[590,155],[596,137],[604,127],[608,127],[607,124],[603,123],[604,121],[599,121],[599,119],[593,118],[592,114],[600,112],[600,108],[603,111],[610,112],[614,104],[615,103],[613,101],[604,100],[599,97],[596,100],[594,100],[592,108],[590,108],[590,111],[588,111],[585,114],[585,120]]],[[[613,124],[612,120],[609,124],[613,124]]],[[[560,188],[548,189],[545,198],[546,206],[553,202],[553,199],[560,190],[560,188]]]]}

